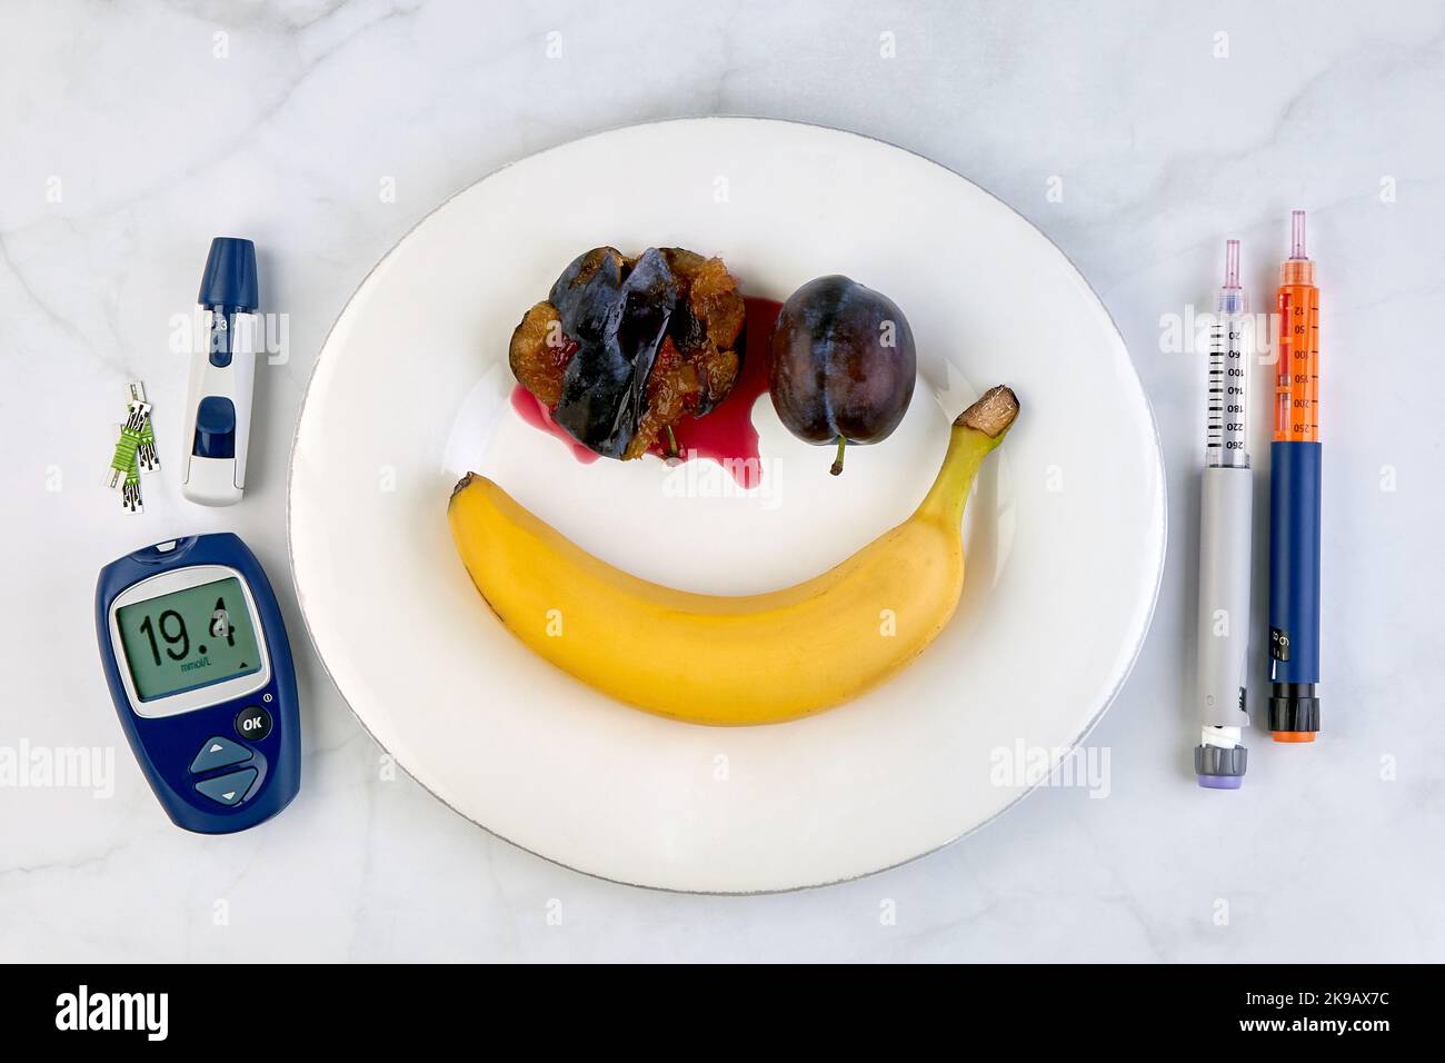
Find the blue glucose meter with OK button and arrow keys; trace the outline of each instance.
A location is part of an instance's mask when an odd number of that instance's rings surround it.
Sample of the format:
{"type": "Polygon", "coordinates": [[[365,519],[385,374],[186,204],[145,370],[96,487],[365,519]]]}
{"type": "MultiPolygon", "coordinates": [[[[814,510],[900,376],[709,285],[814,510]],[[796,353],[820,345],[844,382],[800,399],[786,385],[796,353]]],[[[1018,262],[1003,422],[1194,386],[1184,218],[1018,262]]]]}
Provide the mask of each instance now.
{"type": "Polygon", "coordinates": [[[290,804],[296,675],[244,542],[192,535],[111,561],[95,584],[95,635],[130,749],[176,826],[228,834],[290,804]]]}

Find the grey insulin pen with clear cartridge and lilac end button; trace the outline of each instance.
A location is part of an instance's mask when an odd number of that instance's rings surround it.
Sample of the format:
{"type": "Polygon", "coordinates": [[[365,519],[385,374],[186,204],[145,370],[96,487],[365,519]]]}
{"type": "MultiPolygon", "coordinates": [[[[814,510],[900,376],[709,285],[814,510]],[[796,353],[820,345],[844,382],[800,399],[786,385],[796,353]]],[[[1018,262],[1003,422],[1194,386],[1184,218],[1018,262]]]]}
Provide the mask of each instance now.
{"type": "Polygon", "coordinates": [[[1199,508],[1199,623],[1194,771],[1208,790],[1238,790],[1250,726],[1244,706],[1250,642],[1253,477],[1246,448],[1250,330],[1240,242],[1224,244],[1224,286],[1209,333],[1208,445],[1199,508]]]}

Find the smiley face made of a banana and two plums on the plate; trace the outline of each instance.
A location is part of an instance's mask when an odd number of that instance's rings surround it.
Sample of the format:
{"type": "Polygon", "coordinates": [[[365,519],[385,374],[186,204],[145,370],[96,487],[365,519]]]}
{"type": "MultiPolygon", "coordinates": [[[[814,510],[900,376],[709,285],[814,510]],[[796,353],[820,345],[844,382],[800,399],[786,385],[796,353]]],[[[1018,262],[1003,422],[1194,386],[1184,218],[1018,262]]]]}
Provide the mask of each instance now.
{"type": "MultiPolygon", "coordinates": [[[[737,380],[743,299],[720,259],[598,247],[523,317],[510,363],[578,443],[631,460],[705,417],[737,380]]],[[[783,424],[835,444],[886,440],[913,396],[913,334],[887,296],[844,276],[799,288],[770,343],[783,424]]],[[[983,460],[1019,414],[1004,386],[958,415],[912,516],[834,568],[764,594],[695,594],[588,554],[468,473],[447,513],[473,583],[539,657],[617,700],[689,723],[759,725],[842,704],[907,667],[948,625],[964,584],[961,522],[983,460]],[[879,610],[896,631],[879,635],[879,610]],[[561,610],[561,636],[549,625],[561,610]]],[[[669,453],[676,451],[672,441],[669,453]]]]}

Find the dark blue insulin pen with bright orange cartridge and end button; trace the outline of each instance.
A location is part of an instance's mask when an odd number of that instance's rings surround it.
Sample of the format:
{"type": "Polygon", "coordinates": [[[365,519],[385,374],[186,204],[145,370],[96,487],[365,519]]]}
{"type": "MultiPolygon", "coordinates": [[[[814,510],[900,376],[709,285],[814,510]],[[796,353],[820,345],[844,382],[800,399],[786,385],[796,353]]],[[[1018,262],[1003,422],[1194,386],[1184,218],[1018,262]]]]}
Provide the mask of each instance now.
{"type": "Polygon", "coordinates": [[[1305,211],[1290,217],[1279,269],[1279,360],[1270,444],[1269,729],[1276,742],[1319,730],[1319,289],[1305,211]]]}

